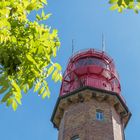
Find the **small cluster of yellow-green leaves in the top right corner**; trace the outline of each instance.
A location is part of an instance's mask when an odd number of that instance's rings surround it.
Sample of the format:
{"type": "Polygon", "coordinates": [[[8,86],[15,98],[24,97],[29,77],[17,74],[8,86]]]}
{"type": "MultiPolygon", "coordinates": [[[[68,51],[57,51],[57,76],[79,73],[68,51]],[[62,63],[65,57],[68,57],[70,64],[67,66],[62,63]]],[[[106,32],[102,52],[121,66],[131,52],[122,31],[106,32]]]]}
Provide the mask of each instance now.
{"type": "Polygon", "coordinates": [[[109,0],[109,3],[112,4],[110,9],[117,9],[118,12],[122,12],[124,9],[132,9],[138,13],[140,10],[140,0],[109,0]]]}

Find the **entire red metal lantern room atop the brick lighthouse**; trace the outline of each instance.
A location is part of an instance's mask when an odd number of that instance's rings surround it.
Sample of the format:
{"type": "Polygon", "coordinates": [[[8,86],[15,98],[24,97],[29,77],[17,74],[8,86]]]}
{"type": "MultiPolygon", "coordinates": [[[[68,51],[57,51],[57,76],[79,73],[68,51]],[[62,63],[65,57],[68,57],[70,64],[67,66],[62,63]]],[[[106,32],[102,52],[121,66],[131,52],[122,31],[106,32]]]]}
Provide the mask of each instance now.
{"type": "Polygon", "coordinates": [[[120,95],[121,86],[113,59],[105,52],[88,49],[74,54],[63,75],[60,96],[84,86],[120,95]]]}

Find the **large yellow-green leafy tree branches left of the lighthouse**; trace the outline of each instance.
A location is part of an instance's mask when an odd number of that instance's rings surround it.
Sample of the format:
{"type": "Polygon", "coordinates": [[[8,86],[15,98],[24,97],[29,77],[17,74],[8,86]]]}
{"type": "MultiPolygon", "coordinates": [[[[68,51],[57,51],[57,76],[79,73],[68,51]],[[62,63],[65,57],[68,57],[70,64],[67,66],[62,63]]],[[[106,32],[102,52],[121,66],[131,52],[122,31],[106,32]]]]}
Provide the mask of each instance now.
{"type": "Polygon", "coordinates": [[[0,94],[1,103],[16,110],[22,94],[31,88],[44,99],[50,96],[48,76],[61,80],[61,66],[53,63],[60,42],[56,29],[40,21],[49,18],[46,0],[0,1],[0,94]],[[27,16],[41,10],[34,21],[27,16]]]}

